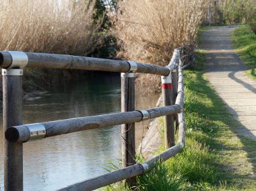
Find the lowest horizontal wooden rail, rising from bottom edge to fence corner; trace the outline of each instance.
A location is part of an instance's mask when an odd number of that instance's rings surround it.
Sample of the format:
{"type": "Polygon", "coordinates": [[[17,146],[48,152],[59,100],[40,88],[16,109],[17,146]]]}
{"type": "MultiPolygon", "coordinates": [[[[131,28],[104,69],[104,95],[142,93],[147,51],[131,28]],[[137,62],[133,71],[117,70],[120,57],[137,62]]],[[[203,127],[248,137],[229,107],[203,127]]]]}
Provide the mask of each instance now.
{"type": "Polygon", "coordinates": [[[60,189],[59,191],[95,190],[108,184],[113,184],[127,178],[138,176],[140,174],[143,174],[143,172],[153,169],[158,163],[170,159],[170,157],[173,157],[174,155],[179,153],[182,148],[182,144],[175,145],[174,147],[171,147],[170,149],[160,153],[160,155],[157,155],[153,159],[150,159],[149,161],[146,161],[144,163],[138,163],[129,167],[125,167],[123,169],[111,171],[107,174],[103,174],[102,176],[97,176],[95,178],[90,178],[88,180],[84,180],[83,182],[67,186],[66,188],[60,189]]]}

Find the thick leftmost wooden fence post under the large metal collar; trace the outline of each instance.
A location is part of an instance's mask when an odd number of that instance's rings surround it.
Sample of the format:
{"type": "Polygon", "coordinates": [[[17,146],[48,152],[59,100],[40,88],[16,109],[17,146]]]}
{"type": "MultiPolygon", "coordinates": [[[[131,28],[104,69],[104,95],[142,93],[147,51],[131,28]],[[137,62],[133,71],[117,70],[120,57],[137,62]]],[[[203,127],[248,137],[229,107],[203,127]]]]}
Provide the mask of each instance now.
{"type": "MultiPolygon", "coordinates": [[[[10,126],[22,124],[22,69],[2,69],[3,132],[10,126]]],[[[15,135],[13,135],[15,136],[15,135]]],[[[4,140],[4,187],[23,190],[22,143],[4,140]]]]}

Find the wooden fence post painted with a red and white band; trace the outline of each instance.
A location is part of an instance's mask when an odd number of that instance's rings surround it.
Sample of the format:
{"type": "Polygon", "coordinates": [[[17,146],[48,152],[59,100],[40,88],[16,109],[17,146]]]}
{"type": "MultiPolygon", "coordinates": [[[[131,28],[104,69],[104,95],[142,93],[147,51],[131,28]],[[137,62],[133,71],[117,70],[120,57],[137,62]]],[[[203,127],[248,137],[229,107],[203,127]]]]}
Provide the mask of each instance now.
{"type": "MultiPolygon", "coordinates": [[[[162,76],[162,100],[164,106],[172,105],[172,77],[171,74],[162,76]]],[[[164,116],[164,143],[165,149],[175,145],[173,115],[164,116]]]]}

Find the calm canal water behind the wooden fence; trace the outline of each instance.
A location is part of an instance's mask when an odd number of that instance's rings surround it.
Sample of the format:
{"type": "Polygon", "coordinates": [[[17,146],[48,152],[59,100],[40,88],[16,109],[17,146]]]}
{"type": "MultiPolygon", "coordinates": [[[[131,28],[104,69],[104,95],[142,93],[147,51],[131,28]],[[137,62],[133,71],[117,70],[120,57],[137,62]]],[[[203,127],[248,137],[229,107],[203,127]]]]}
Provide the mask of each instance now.
{"type": "MultiPolygon", "coordinates": [[[[139,92],[138,92],[139,93],[139,92]]],[[[140,97],[136,109],[154,107],[140,97]]],[[[27,96],[23,123],[45,122],[121,111],[120,74],[92,73],[27,96]]],[[[137,137],[146,125],[137,128],[137,137]]],[[[137,138],[137,144],[139,143],[137,138]]],[[[106,173],[104,164],[121,159],[121,128],[112,126],[24,143],[24,190],[57,190],[106,173]]],[[[0,190],[3,190],[3,128],[0,124],[0,190]]]]}

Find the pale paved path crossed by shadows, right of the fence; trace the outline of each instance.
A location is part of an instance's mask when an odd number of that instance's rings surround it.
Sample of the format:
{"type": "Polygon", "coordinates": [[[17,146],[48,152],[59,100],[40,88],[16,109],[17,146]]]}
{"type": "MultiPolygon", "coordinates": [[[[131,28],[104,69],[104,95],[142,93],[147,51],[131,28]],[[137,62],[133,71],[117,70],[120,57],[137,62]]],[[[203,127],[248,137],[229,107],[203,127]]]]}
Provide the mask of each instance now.
{"type": "Polygon", "coordinates": [[[235,28],[222,26],[203,32],[206,77],[241,123],[236,132],[256,140],[256,81],[244,74],[245,66],[232,48],[230,34],[235,28]]]}

